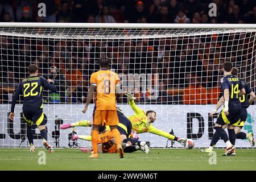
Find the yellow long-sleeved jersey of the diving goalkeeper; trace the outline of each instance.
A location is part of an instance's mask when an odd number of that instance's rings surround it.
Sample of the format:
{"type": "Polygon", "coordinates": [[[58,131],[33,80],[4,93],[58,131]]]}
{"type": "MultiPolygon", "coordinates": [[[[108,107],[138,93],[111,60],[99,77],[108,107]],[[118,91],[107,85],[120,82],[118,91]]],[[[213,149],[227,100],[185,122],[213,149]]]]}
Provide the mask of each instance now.
{"type": "Polygon", "coordinates": [[[130,119],[130,121],[133,125],[134,131],[136,131],[138,134],[149,132],[152,134],[156,134],[156,135],[174,140],[174,135],[171,135],[162,130],[158,130],[154,126],[152,126],[151,123],[148,123],[147,116],[146,116],[145,112],[135,104],[134,100],[129,101],[129,104],[131,106],[131,109],[133,109],[133,111],[134,111],[134,115],[132,115],[131,117],[127,117],[127,118],[130,119]]]}

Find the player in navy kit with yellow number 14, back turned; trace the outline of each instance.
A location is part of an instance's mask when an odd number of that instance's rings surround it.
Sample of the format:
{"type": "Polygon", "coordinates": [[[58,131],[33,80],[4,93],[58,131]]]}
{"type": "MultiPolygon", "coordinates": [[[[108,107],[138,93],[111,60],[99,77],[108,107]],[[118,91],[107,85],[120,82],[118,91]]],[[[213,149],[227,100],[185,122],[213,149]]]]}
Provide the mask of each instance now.
{"type": "Polygon", "coordinates": [[[224,77],[221,78],[221,90],[224,98],[224,109],[218,115],[217,121],[214,125],[216,130],[210,146],[214,146],[221,138],[226,143],[226,150],[224,155],[236,155],[235,143],[236,133],[234,128],[240,126],[241,123],[241,102],[240,97],[245,94],[245,88],[241,80],[232,75],[233,64],[232,62],[225,62],[222,70],[224,77]],[[222,126],[226,125],[228,128],[229,136],[226,134],[222,126]]]}

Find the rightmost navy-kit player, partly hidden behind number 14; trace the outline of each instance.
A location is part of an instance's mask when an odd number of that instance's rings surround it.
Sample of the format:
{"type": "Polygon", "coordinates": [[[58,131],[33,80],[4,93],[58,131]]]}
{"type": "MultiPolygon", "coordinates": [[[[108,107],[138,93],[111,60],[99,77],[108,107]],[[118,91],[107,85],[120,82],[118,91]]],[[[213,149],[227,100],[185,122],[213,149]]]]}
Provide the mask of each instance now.
{"type": "MultiPolygon", "coordinates": [[[[237,68],[233,68],[232,74],[237,76],[238,75],[238,69],[237,68]]],[[[236,133],[236,138],[237,139],[248,139],[251,147],[254,146],[255,144],[255,140],[253,137],[253,133],[244,133],[241,131],[243,125],[246,122],[246,118],[247,118],[247,108],[253,104],[254,100],[255,100],[255,93],[253,92],[253,90],[250,88],[250,86],[248,84],[246,84],[245,82],[241,81],[243,86],[245,87],[245,92],[246,94],[243,95],[242,97],[240,97],[240,102],[241,102],[241,118],[240,118],[240,123],[239,125],[234,127],[235,133],[236,133]],[[250,100],[247,102],[247,95],[250,94],[250,100]]],[[[216,109],[214,109],[213,111],[210,111],[210,117],[213,117],[213,114],[217,113],[217,110],[220,109],[220,107],[224,104],[224,98],[221,97],[220,100],[218,100],[218,104],[216,105],[216,109]]],[[[223,129],[226,128],[226,125],[222,126],[223,129]]],[[[217,137],[217,136],[214,136],[217,137]]],[[[218,142],[217,139],[212,139],[212,142],[210,143],[210,147],[205,149],[205,150],[201,150],[201,152],[212,152],[214,146],[215,146],[215,142],[218,142]]]]}

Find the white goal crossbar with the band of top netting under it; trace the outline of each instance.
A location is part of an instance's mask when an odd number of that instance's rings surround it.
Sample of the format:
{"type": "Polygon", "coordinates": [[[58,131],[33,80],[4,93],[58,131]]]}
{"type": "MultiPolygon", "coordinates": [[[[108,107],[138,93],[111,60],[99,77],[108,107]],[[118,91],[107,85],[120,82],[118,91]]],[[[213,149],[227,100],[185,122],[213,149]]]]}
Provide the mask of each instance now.
{"type": "Polygon", "coordinates": [[[255,24],[0,23],[0,34],[57,39],[150,39],[255,32],[255,24]]]}

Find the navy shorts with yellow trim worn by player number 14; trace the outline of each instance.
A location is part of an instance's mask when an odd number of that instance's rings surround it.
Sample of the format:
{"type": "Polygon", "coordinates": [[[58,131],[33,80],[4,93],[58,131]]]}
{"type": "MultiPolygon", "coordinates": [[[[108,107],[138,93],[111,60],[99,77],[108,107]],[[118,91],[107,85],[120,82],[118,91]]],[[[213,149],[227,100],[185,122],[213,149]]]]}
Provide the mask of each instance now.
{"type": "Polygon", "coordinates": [[[218,125],[240,126],[241,123],[241,107],[229,107],[229,115],[225,115],[224,109],[218,114],[216,123],[218,125]]]}

